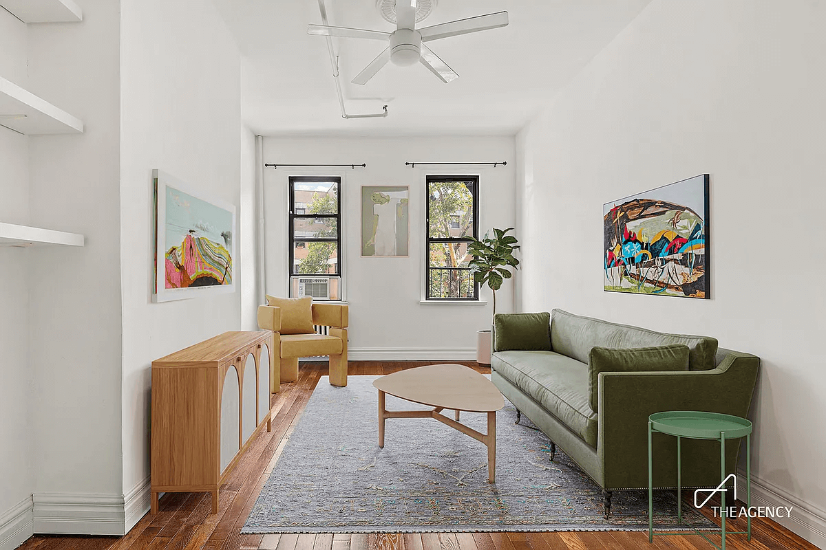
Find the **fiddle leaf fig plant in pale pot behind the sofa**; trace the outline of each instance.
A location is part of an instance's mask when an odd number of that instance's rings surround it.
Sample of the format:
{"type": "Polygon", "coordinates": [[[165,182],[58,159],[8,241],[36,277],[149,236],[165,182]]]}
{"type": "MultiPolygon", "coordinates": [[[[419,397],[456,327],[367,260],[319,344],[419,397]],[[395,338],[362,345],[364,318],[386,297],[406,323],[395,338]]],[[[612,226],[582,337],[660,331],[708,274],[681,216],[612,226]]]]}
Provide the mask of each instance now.
{"type": "MultiPolygon", "coordinates": [[[[482,240],[473,239],[468,245],[468,251],[473,255],[469,262],[470,272],[477,284],[487,284],[493,293],[493,315],[496,315],[496,290],[501,289],[502,283],[513,276],[510,269],[519,269],[519,260],[514,257],[514,251],[519,250],[519,241],[507,233],[513,228],[493,228],[493,236],[485,233],[482,240]]],[[[493,319],[491,317],[491,326],[493,319]]],[[[491,331],[477,332],[477,363],[491,363],[491,331]]]]}

